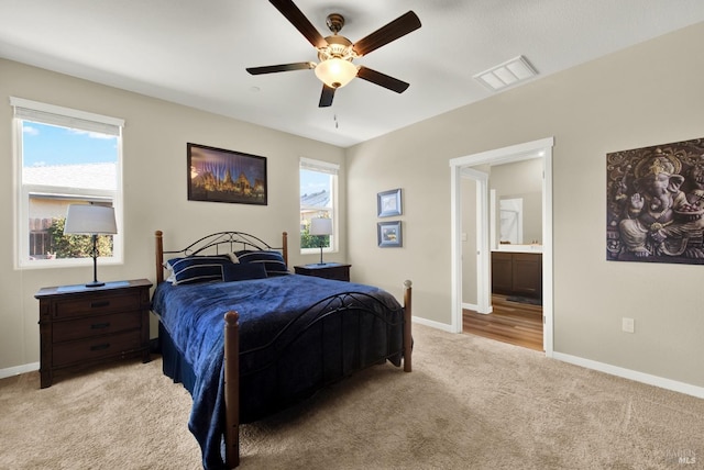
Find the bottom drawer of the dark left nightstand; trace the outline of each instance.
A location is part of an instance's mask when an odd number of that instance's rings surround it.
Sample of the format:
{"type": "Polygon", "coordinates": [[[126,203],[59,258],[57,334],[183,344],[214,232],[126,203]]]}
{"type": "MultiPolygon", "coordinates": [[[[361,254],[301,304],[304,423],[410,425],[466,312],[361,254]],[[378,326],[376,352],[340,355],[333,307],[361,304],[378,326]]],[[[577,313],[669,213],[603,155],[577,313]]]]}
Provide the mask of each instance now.
{"type": "Polygon", "coordinates": [[[92,359],[100,359],[140,349],[141,347],[142,338],[139,331],[61,343],[54,345],[52,366],[62,367],[75,362],[82,363],[92,359]]]}

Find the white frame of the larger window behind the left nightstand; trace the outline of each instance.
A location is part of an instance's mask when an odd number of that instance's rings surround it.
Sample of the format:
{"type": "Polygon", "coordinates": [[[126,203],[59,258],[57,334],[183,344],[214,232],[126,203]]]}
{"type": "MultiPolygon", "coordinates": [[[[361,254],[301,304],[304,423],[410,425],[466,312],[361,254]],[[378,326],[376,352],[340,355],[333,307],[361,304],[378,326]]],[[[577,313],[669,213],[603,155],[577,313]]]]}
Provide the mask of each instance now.
{"type": "Polygon", "coordinates": [[[101,265],[121,265],[124,262],[123,247],[123,188],[122,188],[122,128],[124,120],[95,114],[70,108],[42,103],[23,98],[10,97],[12,107],[13,148],[12,164],[14,175],[13,208],[14,208],[14,269],[51,269],[66,267],[92,266],[92,258],[58,258],[58,259],[30,259],[30,198],[57,197],[66,200],[80,201],[111,201],[114,209],[118,233],[112,235],[112,256],[100,257],[101,265]],[[64,186],[24,184],[24,122],[36,122],[46,125],[99,132],[117,137],[116,161],[116,189],[78,189],[64,186]]]}

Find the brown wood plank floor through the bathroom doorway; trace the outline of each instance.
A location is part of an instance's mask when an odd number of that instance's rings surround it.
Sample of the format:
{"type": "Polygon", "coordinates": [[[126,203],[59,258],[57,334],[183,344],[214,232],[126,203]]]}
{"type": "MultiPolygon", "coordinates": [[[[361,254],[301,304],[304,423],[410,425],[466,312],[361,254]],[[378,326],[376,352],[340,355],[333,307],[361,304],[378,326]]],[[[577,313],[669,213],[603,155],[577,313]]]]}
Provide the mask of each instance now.
{"type": "Polygon", "coordinates": [[[490,314],[462,310],[462,333],[542,349],[542,306],[508,301],[506,295],[492,295],[494,312],[490,314]]]}

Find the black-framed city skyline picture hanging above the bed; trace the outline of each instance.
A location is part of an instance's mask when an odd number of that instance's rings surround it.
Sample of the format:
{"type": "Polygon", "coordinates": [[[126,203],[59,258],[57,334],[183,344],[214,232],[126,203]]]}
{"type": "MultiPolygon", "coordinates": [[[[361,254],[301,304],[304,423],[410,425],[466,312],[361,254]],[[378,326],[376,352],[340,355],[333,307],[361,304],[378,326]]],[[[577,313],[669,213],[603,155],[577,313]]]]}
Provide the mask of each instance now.
{"type": "Polygon", "coordinates": [[[266,158],[188,144],[188,200],[266,205],[266,158]]]}

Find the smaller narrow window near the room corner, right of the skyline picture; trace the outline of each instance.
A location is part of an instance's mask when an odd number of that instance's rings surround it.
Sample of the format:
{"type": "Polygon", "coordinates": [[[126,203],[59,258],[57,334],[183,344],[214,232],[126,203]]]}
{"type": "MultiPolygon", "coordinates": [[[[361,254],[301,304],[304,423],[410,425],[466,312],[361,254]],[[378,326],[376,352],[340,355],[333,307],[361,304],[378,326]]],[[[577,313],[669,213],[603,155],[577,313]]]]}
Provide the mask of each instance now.
{"type": "Polygon", "coordinates": [[[327,161],[300,159],[300,253],[317,253],[322,244],[324,251],[337,249],[339,223],[336,220],[339,165],[327,161]],[[332,220],[332,235],[310,235],[310,220],[332,220]]]}

